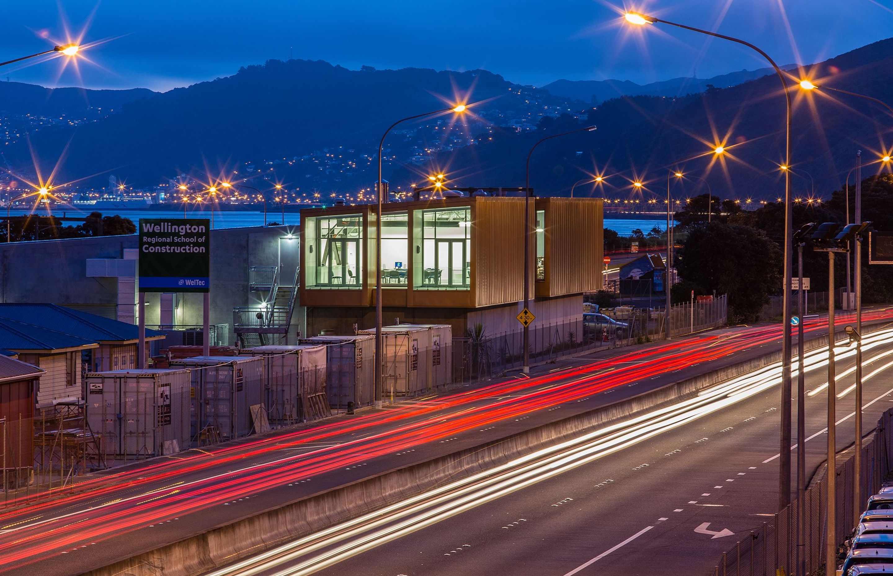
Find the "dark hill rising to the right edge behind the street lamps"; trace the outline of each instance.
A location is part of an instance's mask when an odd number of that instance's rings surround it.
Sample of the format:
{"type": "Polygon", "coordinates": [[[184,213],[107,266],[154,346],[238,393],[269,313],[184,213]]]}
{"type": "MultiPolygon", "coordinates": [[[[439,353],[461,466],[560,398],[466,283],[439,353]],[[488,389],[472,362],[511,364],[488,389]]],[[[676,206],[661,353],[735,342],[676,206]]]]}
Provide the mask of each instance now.
{"type": "MultiPolygon", "coordinates": [[[[830,88],[893,103],[893,38],[858,48],[808,66],[805,73],[830,88]]],[[[796,77],[795,77],[796,78],[796,77]]],[[[893,145],[893,116],[861,98],[816,90],[803,93],[790,80],[794,98],[792,178],[795,196],[838,190],[863,150],[864,174],[887,170],[875,160],[893,145]]],[[[587,173],[605,170],[604,193],[629,198],[636,174],[647,181],[643,199],[666,196],[669,170],[679,167],[692,176],[705,176],[714,195],[723,198],[774,200],[783,195],[779,165],[784,159],[785,104],[777,76],[764,76],[727,89],[709,89],[687,97],[623,97],[597,106],[588,122],[598,130],[552,140],[537,149],[531,165],[531,185],[541,195],[567,195],[587,173]],[[714,136],[715,134],[715,136],[714,136]],[[726,169],[710,150],[714,141],[729,147],[726,169]],[[685,161],[687,158],[697,159],[685,161]]],[[[573,123],[582,125],[582,123],[573,123]]],[[[563,128],[568,128],[564,123],[563,128]]],[[[454,175],[474,174],[474,183],[520,186],[524,158],[530,146],[549,131],[500,133],[480,146],[441,154],[438,165],[462,167],[454,175]]],[[[393,179],[412,178],[395,174],[393,179]]],[[[851,179],[850,182],[853,182],[851,179]]],[[[681,197],[706,192],[697,179],[673,189],[681,197]]],[[[577,193],[593,193],[580,186],[577,193]]]]}

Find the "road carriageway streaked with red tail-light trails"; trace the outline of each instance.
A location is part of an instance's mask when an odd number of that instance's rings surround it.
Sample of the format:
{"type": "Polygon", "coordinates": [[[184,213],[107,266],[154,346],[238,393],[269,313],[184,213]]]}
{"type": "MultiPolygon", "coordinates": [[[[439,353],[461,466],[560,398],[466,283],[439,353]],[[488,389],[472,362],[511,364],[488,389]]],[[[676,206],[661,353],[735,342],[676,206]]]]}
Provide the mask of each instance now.
{"type": "MultiPolygon", "coordinates": [[[[889,310],[876,310],[865,316],[879,320],[889,314],[889,310]]],[[[821,334],[821,322],[807,326],[807,333],[821,334]]],[[[313,427],[133,464],[82,481],[74,490],[32,496],[0,510],[0,571],[69,574],[72,563],[79,570],[112,563],[330,487],[480,445],[709,371],[722,363],[776,350],[779,337],[778,326],[743,327],[614,351],[617,353],[610,357],[576,360],[576,366],[552,372],[543,368],[530,379],[512,378],[313,427]]],[[[776,381],[777,377],[766,386],[776,381]]],[[[708,412],[698,414],[703,418],[708,412]]],[[[777,417],[767,414],[757,419],[765,426],[774,422],[777,429],[777,417]]],[[[649,428],[647,435],[659,435],[663,443],[679,434],[674,426],[649,428]]],[[[626,444],[630,447],[620,452],[610,450],[611,457],[626,458],[630,448],[640,449],[635,442],[626,444]]],[[[597,467],[600,469],[604,462],[597,467]]],[[[653,466],[648,464],[637,471],[653,466]]],[[[681,466],[684,477],[685,464],[681,466]]],[[[571,479],[576,474],[579,472],[568,470],[566,476],[555,481],[563,482],[563,478],[571,479]]],[[[598,488],[593,482],[594,490],[619,486],[622,478],[620,469],[613,475],[598,475],[605,476],[599,482],[611,481],[598,488]]],[[[544,478],[541,470],[535,476],[544,478]]],[[[638,475],[642,476],[645,473],[638,475]]],[[[647,498],[647,492],[623,490],[622,497],[638,501],[643,494],[647,498]]],[[[475,501],[488,502],[486,498],[475,501]]],[[[499,506],[499,502],[486,505],[499,506]]],[[[555,508],[569,502],[556,504],[555,508]]],[[[641,520],[638,516],[636,519],[641,520]]],[[[522,523],[526,525],[526,521],[522,523]]],[[[589,522],[603,524],[591,518],[589,522]]],[[[443,528],[432,529],[438,533],[443,528]]],[[[573,533],[572,529],[567,531],[568,535],[573,533]]],[[[338,568],[333,570],[331,573],[339,573],[338,568]]]]}

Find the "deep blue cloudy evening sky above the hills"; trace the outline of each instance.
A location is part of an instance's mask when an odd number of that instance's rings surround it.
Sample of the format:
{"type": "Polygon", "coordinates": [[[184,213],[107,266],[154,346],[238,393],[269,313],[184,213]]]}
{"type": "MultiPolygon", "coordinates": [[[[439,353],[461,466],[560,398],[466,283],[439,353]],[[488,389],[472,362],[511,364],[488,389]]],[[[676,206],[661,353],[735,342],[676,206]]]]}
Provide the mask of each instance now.
{"type": "MultiPolygon", "coordinates": [[[[0,78],[45,86],[165,90],[267,59],[348,68],[485,68],[506,80],[706,78],[765,66],[743,47],[684,30],[630,32],[601,0],[7,0],[0,59],[65,41],[89,51],[79,73],[57,63],[8,66],[0,78]],[[48,34],[48,38],[46,37],[48,34]]],[[[665,20],[739,36],[779,64],[813,63],[887,38],[893,0],[645,0],[665,20]],[[789,22],[789,27],[788,24],[789,22]],[[791,38],[796,38],[792,41],[791,38]]]]}

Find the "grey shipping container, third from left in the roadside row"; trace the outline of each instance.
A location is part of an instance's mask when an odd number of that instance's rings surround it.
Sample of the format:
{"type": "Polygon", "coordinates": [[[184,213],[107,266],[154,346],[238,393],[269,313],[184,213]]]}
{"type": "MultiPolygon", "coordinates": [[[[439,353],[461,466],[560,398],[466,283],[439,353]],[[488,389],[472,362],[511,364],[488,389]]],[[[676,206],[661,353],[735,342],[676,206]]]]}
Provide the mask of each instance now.
{"type": "Polygon", "coordinates": [[[266,378],[263,405],[274,427],[288,426],[329,415],[326,397],[326,347],[267,345],[241,352],[263,356],[266,378]]]}

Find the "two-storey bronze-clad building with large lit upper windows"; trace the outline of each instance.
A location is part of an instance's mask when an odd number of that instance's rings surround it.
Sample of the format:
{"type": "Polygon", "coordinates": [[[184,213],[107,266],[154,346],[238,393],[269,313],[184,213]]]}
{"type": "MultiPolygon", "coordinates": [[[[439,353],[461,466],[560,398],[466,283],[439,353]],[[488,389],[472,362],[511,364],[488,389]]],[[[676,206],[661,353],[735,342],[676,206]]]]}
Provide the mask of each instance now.
{"type": "MultiPolygon", "coordinates": [[[[308,334],[374,326],[375,230],[371,205],[301,211],[300,302],[308,334]]],[[[540,325],[579,319],[583,292],[601,288],[601,199],[530,202],[530,309],[540,325]]],[[[524,199],[472,196],[395,202],[381,216],[386,324],[476,324],[522,329],[524,199]]]]}

